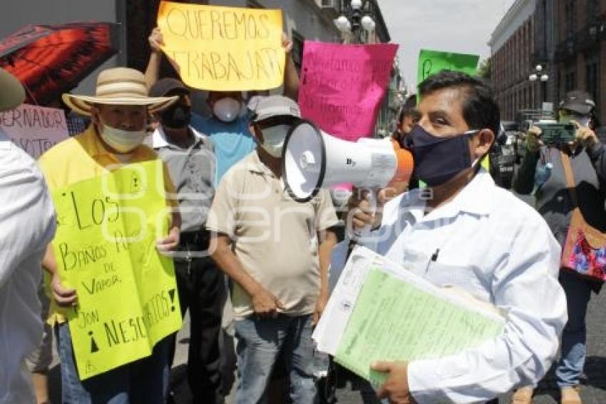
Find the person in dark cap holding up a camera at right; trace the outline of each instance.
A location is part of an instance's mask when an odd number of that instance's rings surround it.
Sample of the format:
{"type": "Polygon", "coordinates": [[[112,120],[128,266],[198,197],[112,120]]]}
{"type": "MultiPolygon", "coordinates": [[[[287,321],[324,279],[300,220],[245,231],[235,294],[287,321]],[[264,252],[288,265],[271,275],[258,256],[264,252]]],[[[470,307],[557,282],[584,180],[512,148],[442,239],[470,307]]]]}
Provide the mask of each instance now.
{"type": "MultiPolygon", "coordinates": [[[[585,91],[570,91],[560,103],[558,123],[575,126],[571,139],[548,141],[537,126],[526,135],[526,153],[513,182],[520,194],[533,193],[536,208],[553,235],[565,247],[572,213],[580,208],[590,226],[605,233],[606,154],[590,127],[595,103],[585,91]],[[567,173],[568,171],[568,173],[567,173]]],[[[560,284],[568,302],[568,323],[562,335],[561,357],[556,369],[562,403],[581,403],[579,379],[585,364],[585,314],[591,291],[602,283],[572,271],[560,271],[560,284]]],[[[531,403],[533,388],[520,388],[514,403],[531,403]]]]}

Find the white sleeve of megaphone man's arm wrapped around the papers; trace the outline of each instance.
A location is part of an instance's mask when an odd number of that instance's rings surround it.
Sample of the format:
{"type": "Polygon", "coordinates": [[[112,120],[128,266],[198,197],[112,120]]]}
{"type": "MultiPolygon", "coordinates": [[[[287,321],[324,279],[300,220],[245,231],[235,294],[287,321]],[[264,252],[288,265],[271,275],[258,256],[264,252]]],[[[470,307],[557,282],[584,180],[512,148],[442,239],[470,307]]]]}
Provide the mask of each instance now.
{"type": "Polygon", "coordinates": [[[516,385],[535,385],[547,373],[567,309],[558,283],[560,246],[539,219],[519,225],[493,273],[494,303],[507,313],[505,332],[458,355],[409,363],[409,389],[419,404],[484,402],[516,385]]]}

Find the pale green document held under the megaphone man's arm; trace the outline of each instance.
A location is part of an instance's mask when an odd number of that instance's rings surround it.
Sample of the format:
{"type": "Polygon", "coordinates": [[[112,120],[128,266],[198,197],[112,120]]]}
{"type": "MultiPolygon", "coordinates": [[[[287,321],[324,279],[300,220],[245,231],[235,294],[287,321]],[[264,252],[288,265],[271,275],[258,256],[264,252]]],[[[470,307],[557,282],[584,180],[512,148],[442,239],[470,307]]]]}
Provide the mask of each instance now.
{"type": "Polygon", "coordinates": [[[371,268],[337,348],[337,363],[380,385],[376,360],[441,358],[503,333],[504,321],[371,268]]]}

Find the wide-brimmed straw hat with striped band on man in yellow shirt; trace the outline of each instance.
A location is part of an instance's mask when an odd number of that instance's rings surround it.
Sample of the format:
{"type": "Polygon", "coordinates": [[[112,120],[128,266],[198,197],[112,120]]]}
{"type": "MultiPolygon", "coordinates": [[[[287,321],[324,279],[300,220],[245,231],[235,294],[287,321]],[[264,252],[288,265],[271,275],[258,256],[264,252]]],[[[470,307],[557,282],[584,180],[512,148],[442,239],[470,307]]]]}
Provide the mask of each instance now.
{"type": "Polygon", "coordinates": [[[101,71],[97,78],[95,96],[63,94],[63,101],[81,115],[91,115],[91,107],[94,104],[141,105],[147,106],[150,112],[158,112],[168,108],[177,99],[177,96],[148,96],[143,73],[126,67],[101,71]]]}

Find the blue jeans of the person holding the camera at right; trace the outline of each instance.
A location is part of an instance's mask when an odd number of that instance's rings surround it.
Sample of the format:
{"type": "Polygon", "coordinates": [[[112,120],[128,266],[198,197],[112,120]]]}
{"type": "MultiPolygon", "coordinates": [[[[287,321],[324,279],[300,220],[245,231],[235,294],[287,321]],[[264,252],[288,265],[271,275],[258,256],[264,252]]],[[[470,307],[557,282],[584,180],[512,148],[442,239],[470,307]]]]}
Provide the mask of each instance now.
{"type": "Polygon", "coordinates": [[[560,284],[566,293],[568,305],[568,323],[562,333],[562,352],[558,368],[555,369],[561,388],[579,384],[583,372],[587,354],[585,314],[592,289],[590,281],[567,271],[560,271],[560,284]]]}

